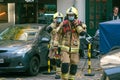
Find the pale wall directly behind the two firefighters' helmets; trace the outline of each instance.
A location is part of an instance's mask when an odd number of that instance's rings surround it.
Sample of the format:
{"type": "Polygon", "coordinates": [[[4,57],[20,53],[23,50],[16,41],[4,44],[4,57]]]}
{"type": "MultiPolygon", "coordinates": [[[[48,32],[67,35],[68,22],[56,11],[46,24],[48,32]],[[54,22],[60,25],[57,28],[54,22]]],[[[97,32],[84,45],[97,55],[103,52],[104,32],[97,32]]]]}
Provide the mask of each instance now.
{"type": "Polygon", "coordinates": [[[73,6],[74,3],[78,8],[78,19],[85,22],[85,0],[57,0],[57,11],[62,12],[65,15],[66,10],[73,6]]]}

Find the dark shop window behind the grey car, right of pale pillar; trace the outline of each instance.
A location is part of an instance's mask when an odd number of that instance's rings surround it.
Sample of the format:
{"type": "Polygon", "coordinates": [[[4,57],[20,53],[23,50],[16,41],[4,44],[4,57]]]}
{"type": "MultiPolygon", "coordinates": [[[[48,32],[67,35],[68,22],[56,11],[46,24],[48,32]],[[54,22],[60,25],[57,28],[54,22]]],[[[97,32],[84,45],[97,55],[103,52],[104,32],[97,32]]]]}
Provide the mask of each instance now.
{"type": "Polygon", "coordinates": [[[56,0],[16,1],[16,23],[49,24],[57,10],[56,0]],[[30,2],[27,2],[30,1],[30,2]]]}

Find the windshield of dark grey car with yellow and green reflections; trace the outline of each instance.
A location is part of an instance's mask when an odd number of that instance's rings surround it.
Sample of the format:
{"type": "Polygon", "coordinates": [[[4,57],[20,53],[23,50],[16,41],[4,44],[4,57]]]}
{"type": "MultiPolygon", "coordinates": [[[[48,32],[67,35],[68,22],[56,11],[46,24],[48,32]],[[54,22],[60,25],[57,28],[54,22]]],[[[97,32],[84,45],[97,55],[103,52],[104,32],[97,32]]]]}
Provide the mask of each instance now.
{"type": "Polygon", "coordinates": [[[38,29],[30,27],[10,27],[0,34],[0,40],[24,40],[35,39],[38,29]]]}

